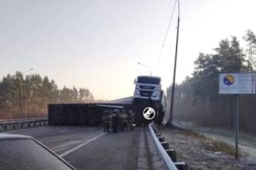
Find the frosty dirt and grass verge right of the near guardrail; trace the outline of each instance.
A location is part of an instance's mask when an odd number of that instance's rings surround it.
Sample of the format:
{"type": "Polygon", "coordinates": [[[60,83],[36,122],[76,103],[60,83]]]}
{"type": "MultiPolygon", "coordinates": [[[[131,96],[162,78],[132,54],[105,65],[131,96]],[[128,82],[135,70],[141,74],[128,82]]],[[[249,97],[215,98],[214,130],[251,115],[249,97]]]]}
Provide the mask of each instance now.
{"type": "Polygon", "coordinates": [[[216,150],[205,138],[170,127],[158,128],[170,148],[176,151],[177,161],[187,162],[189,169],[256,169],[256,164],[216,150]]]}

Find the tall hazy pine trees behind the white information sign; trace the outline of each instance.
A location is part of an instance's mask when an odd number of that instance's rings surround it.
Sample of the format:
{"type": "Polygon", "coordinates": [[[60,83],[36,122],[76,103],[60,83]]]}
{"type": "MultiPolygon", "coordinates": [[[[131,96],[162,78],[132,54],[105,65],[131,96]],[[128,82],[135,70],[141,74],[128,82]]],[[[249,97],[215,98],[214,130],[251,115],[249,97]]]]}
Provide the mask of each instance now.
{"type": "MultiPolygon", "coordinates": [[[[236,97],[218,92],[220,73],[248,73],[256,69],[256,36],[250,29],[241,47],[236,36],[221,39],[214,53],[199,53],[191,76],[176,86],[173,118],[195,124],[234,128],[236,97]]],[[[170,99],[171,88],[167,89],[170,99]]],[[[256,134],[256,96],[241,95],[239,128],[256,134]]]]}

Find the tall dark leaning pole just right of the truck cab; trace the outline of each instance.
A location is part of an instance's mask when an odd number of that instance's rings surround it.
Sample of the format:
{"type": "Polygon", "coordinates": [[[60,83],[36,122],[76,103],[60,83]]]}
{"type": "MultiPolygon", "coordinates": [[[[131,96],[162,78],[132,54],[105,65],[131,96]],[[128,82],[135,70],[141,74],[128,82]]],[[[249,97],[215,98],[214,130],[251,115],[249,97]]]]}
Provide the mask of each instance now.
{"type": "Polygon", "coordinates": [[[176,37],[175,59],[174,59],[173,80],[172,80],[172,96],[171,96],[170,117],[169,117],[170,125],[172,125],[172,117],[173,117],[173,103],[174,103],[174,93],[175,93],[176,64],[177,64],[179,25],[180,25],[180,1],[179,0],[177,1],[178,1],[179,13],[178,13],[177,37],[176,37]]]}

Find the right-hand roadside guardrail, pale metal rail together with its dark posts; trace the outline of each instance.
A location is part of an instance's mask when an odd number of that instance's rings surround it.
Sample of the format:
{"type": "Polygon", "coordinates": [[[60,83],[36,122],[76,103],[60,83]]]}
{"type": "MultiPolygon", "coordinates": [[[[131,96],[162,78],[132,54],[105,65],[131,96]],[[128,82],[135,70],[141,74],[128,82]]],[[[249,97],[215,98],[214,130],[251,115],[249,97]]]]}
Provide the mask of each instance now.
{"type": "Polygon", "coordinates": [[[169,143],[164,141],[164,137],[157,131],[154,124],[149,124],[148,127],[154,139],[157,152],[163,160],[166,168],[168,170],[188,170],[188,164],[185,162],[177,162],[175,150],[170,150],[169,143]]]}

